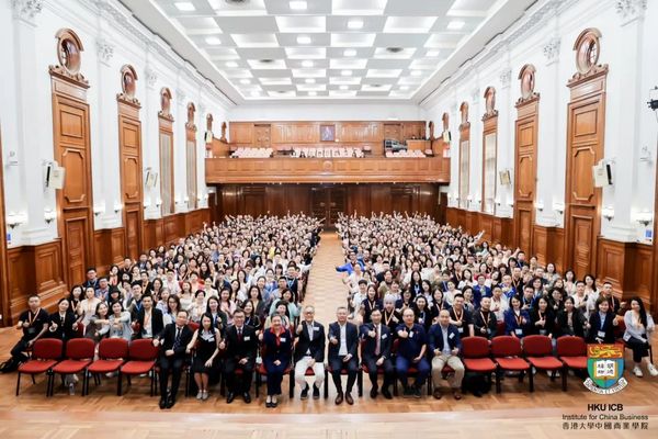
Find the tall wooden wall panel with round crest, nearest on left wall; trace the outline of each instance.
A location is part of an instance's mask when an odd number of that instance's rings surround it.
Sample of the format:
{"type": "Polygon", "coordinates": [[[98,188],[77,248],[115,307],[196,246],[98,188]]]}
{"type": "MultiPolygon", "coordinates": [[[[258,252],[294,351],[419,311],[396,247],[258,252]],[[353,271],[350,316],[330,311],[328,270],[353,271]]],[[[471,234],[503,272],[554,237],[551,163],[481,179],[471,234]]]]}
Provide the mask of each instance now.
{"type": "Polygon", "coordinates": [[[68,284],[84,280],[86,267],[94,261],[93,191],[91,184],[91,144],[88,81],[79,72],[83,50],[70,30],[57,33],[60,65],[50,66],[53,97],[54,158],[66,169],[64,188],[57,191],[57,225],[63,238],[68,284]]]}

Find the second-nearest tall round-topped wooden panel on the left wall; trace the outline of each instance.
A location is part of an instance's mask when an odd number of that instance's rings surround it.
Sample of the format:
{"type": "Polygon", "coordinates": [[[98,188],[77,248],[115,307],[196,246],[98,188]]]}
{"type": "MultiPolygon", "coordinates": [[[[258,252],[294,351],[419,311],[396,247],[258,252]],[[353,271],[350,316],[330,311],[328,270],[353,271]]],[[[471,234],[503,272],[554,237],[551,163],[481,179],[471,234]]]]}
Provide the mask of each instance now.
{"type": "Polygon", "coordinates": [[[122,68],[122,92],[116,95],[118,106],[118,150],[123,225],[122,247],[112,246],[112,255],[137,259],[146,247],[144,239],[144,183],[141,175],[141,122],[139,101],[135,98],[137,74],[132,66],[122,68]]]}

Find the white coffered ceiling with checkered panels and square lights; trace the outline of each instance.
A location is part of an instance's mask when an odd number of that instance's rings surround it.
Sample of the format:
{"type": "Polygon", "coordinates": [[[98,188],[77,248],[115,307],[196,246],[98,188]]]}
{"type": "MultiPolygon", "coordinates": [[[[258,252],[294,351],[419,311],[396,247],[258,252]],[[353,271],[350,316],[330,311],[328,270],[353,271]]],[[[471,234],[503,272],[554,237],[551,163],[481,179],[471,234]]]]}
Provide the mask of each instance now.
{"type": "Polygon", "coordinates": [[[420,101],[534,0],[122,0],[237,103],[420,101]]]}

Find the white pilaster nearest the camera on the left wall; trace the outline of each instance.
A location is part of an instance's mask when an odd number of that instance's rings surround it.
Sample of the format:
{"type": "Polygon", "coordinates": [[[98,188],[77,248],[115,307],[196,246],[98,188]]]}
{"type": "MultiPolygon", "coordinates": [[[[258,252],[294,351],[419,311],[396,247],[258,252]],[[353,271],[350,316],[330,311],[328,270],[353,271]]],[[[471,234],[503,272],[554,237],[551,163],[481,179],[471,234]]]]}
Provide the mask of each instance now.
{"type": "MultiPolygon", "coordinates": [[[[48,75],[44,66],[37,63],[36,18],[42,11],[42,0],[12,0],[14,24],[14,59],[15,75],[15,132],[16,145],[3,145],[5,151],[15,151],[18,166],[8,167],[7,181],[19,173],[20,188],[5,188],[8,205],[5,213],[19,214],[24,223],[9,229],[14,238],[11,246],[37,245],[52,240],[57,236],[57,222],[47,225],[44,210],[56,210],[55,190],[45,189],[45,165],[53,160],[54,147],[52,133],[41,130],[50,126],[52,110],[49,103],[41,101],[35,85],[48,75]],[[35,111],[48,105],[46,111],[35,111]],[[50,117],[50,120],[48,120],[50,117]],[[39,127],[39,128],[37,128],[39,127]],[[16,196],[18,195],[18,196],[16,196]],[[11,200],[11,204],[9,201],[11,200]]],[[[5,159],[7,160],[7,159],[5,159]]],[[[5,164],[7,165],[7,164],[5,164]]],[[[4,237],[2,237],[4,239],[4,237]]]]}

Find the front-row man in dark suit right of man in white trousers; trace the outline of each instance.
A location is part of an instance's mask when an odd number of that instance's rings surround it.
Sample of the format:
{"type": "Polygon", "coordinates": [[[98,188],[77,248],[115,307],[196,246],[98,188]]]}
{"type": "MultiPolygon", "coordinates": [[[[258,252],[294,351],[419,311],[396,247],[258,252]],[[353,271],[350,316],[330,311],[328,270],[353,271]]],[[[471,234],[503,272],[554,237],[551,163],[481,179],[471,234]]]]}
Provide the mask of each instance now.
{"type": "Polygon", "coordinates": [[[348,322],[348,308],[339,306],[336,311],[338,322],[329,325],[329,369],[331,378],[338,391],[336,404],[342,404],[343,397],[348,404],[354,404],[352,398],[352,387],[356,381],[359,371],[359,357],[356,349],[359,347],[359,331],[356,325],[348,322]],[[345,369],[348,372],[348,385],[343,393],[340,372],[345,369]]]}

